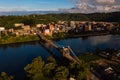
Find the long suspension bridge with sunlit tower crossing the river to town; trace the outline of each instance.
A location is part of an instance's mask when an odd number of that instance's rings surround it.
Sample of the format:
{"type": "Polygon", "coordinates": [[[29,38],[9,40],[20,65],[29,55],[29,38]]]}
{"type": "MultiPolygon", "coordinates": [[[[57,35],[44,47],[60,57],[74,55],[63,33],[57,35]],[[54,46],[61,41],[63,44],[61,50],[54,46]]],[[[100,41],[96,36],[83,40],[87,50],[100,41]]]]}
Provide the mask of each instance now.
{"type": "Polygon", "coordinates": [[[58,51],[60,51],[60,53],[63,55],[63,57],[67,58],[68,60],[72,61],[72,62],[76,62],[76,63],[80,63],[79,58],[76,56],[76,54],[72,51],[72,49],[67,46],[67,47],[59,47],[58,45],[54,44],[51,40],[48,40],[46,37],[44,37],[44,35],[42,35],[41,33],[37,33],[37,36],[40,38],[40,40],[48,43],[50,46],[56,48],[58,51]],[[71,56],[70,53],[73,55],[71,56]]]}

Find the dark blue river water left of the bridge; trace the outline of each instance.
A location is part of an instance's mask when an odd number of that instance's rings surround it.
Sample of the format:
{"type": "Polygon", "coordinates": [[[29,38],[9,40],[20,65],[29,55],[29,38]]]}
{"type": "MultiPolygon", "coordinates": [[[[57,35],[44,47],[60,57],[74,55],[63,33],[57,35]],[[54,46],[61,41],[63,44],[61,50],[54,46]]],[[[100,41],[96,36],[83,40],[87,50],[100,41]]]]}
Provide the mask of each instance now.
{"type": "Polygon", "coordinates": [[[39,42],[0,46],[0,72],[5,71],[23,80],[24,67],[38,56],[41,56],[44,61],[50,56],[39,42]]]}

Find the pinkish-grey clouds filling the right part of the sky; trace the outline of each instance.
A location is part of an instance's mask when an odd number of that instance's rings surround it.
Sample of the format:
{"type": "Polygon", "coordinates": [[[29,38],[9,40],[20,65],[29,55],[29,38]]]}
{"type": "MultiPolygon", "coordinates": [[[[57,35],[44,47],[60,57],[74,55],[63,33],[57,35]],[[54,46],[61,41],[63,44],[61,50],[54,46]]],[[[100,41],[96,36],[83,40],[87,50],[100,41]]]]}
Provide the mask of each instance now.
{"type": "Polygon", "coordinates": [[[62,9],[70,13],[94,13],[120,11],[119,0],[70,0],[75,4],[71,9],[62,9]]]}

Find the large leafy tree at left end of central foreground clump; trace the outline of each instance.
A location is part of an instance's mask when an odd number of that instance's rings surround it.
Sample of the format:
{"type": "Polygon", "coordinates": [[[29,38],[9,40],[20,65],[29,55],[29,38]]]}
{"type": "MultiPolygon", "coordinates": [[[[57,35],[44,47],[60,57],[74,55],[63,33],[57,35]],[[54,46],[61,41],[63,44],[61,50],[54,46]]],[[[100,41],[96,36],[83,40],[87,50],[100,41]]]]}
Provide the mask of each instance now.
{"type": "Polygon", "coordinates": [[[27,72],[27,76],[31,80],[45,80],[42,73],[44,67],[44,61],[41,57],[35,58],[31,64],[28,64],[24,70],[27,72]]]}

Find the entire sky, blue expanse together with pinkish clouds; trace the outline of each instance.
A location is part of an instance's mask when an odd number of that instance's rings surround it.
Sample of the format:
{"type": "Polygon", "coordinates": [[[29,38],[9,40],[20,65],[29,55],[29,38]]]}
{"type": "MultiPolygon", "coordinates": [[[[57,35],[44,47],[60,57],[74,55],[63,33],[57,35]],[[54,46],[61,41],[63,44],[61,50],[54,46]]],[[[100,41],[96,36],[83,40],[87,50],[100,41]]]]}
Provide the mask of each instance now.
{"type": "Polygon", "coordinates": [[[120,0],[0,0],[0,11],[66,11],[92,13],[120,11],[120,0]]]}

